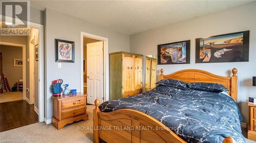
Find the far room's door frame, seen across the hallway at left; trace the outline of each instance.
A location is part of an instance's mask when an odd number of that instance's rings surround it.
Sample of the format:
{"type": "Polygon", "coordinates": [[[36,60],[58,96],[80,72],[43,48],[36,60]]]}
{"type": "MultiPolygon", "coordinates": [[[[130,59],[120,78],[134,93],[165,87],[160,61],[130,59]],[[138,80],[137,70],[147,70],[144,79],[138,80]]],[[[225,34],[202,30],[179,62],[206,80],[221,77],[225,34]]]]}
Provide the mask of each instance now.
{"type": "Polygon", "coordinates": [[[15,46],[15,47],[20,47],[22,48],[22,62],[23,62],[23,66],[22,66],[22,79],[23,79],[23,93],[22,93],[22,97],[23,100],[26,100],[26,45],[23,44],[15,44],[15,43],[9,43],[9,42],[1,42],[0,41],[0,45],[7,45],[7,46],[15,46]]]}

